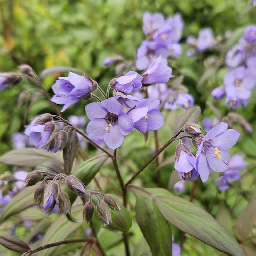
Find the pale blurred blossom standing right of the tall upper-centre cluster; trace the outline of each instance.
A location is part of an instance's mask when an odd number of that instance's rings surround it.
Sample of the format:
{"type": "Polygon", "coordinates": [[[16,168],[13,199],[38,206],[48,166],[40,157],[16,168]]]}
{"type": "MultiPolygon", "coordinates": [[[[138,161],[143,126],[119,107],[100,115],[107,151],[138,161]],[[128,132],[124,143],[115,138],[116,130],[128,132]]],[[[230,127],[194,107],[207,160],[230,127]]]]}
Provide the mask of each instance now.
{"type": "Polygon", "coordinates": [[[213,48],[214,34],[211,28],[200,29],[196,46],[199,52],[213,48]]]}

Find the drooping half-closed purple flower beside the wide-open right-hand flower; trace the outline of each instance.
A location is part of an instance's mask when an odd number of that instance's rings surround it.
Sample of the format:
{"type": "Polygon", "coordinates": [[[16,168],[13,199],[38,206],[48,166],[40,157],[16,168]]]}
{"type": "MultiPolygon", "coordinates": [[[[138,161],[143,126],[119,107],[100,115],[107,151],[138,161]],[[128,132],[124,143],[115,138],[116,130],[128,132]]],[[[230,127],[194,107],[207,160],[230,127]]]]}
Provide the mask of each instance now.
{"type": "Polygon", "coordinates": [[[188,181],[196,180],[198,178],[198,172],[195,169],[195,160],[195,156],[185,144],[179,144],[176,147],[174,168],[178,171],[180,179],[188,181]]]}

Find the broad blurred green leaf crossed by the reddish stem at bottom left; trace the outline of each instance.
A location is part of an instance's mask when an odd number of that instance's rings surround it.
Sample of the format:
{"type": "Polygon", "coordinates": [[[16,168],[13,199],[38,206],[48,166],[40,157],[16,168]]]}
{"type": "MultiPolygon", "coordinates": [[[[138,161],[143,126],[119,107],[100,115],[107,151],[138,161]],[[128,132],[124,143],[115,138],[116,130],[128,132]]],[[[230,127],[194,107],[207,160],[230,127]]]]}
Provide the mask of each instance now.
{"type": "MultiPolygon", "coordinates": [[[[83,205],[76,206],[72,209],[73,216],[81,218],[83,212],[83,205]]],[[[47,232],[42,239],[41,245],[51,244],[58,241],[65,240],[72,232],[74,232],[77,228],[85,223],[74,223],[67,219],[66,216],[60,216],[57,220],[55,220],[52,225],[47,229],[47,232]]],[[[52,255],[57,247],[52,247],[40,252],[40,256],[49,256],[52,255]]]]}

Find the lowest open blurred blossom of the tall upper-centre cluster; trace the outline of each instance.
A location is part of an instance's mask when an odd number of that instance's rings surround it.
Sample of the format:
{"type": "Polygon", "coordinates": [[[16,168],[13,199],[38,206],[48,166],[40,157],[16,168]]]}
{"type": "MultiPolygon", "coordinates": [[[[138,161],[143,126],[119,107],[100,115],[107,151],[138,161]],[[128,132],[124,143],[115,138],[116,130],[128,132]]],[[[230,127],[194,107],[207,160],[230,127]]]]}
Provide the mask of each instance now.
{"type": "Polygon", "coordinates": [[[137,49],[136,68],[144,70],[160,55],[163,58],[168,58],[170,55],[169,49],[158,42],[144,40],[137,49]]]}

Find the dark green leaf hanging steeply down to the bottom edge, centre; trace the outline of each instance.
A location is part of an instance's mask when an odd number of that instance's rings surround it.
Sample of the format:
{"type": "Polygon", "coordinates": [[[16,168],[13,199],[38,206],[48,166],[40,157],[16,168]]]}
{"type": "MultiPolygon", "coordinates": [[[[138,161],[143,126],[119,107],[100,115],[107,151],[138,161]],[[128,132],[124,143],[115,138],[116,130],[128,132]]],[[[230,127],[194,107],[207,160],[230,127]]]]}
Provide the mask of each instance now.
{"type": "Polygon", "coordinates": [[[136,196],[136,219],[152,255],[172,255],[172,231],[158,210],[154,197],[133,186],[129,188],[136,196]]]}

